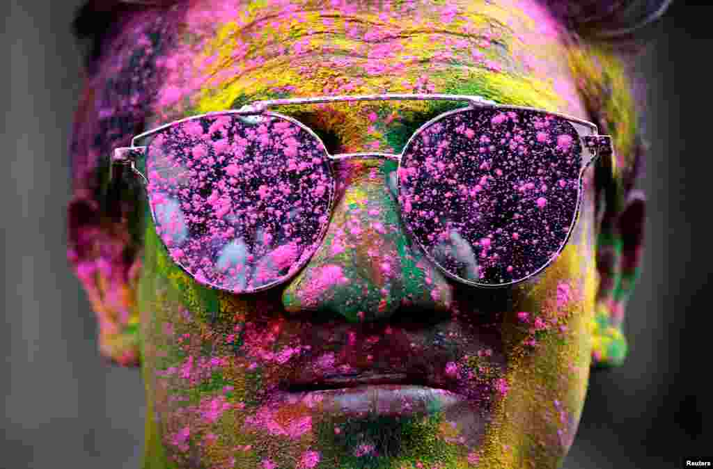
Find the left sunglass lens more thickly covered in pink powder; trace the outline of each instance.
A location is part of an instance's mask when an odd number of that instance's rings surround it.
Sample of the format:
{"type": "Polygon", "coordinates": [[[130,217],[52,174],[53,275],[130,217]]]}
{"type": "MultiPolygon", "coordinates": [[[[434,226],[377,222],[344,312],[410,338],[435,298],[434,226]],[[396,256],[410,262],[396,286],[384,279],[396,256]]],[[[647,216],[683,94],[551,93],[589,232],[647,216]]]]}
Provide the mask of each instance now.
{"type": "Polygon", "coordinates": [[[254,292],[307,262],[327,226],[324,146],[275,115],[211,115],[148,146],[148,195],[170,256],[202,284],[254,292]]]}

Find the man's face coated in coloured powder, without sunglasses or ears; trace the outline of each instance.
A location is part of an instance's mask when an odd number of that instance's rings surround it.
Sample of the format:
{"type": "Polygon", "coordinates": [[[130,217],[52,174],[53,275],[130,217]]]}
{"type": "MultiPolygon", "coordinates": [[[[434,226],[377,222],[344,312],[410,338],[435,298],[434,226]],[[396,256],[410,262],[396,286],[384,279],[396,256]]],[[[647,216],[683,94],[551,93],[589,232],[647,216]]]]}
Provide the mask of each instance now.
{"type": "MultiPolygon", "coordinates": [[[[168,72],[147,128],[250,100],[384,92],[479,95],[588,118],[557,25],[533,0],[213,0],[194,2],[183,19],[178,44],[160,58],[168,72]]],[[[330,153],[399,153],[443,110],[378,101],[279,112],[309,125],[330,153]]],[[[322,244],[299,274],[257,294],[203,287],[145,218],[148,460],[557,467],[590,368],[593,171],[558,259],[515,287],[481,289],[444,276],[407,235],[396,164],[365,158],[334,170],[322,244]],[[402,383],[376,386],[394,379],[402,383]]]]}

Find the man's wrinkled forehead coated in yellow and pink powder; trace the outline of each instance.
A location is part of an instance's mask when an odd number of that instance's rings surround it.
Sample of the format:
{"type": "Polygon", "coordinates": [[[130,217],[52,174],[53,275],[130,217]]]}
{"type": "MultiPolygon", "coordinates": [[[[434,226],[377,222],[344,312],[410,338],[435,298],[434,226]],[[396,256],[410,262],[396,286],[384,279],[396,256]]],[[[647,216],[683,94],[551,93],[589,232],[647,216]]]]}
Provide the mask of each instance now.
{"type": "Polygon", "coordinates": [[[382,92],[586,117],[559,25],[533,0],[201,0],[180,23],[153,123],[258,98],[382,92]]]}

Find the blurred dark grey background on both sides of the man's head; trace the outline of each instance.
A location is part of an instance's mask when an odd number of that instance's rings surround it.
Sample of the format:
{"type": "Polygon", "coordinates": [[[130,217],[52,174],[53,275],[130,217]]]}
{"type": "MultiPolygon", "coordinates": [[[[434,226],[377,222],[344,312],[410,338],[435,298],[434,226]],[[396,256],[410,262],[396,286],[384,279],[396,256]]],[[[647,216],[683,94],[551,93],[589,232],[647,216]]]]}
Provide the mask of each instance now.
{"type": "MultiPolygon", "coordinates": [[[[0,0],[6,166],[5,413],[0,467],[138,468],[143,386],[106,365],[96,321],[65,257],[67,141],[80,90],[69,24],[79,0],[0,0]],[[9,78],[9,83],[6,80],[9,78]]],[[[652,151],[645,269],[626,320],[630,356],[595,373],[565,469],[677,468],[713,455],[709,178],[713,6],[673,9],[637,68],[650,76],[652,151]],[[696,227],[697,229],[695,229],[696,227]],[[708,301],[706,301],[708,300],[708,301]]]]}

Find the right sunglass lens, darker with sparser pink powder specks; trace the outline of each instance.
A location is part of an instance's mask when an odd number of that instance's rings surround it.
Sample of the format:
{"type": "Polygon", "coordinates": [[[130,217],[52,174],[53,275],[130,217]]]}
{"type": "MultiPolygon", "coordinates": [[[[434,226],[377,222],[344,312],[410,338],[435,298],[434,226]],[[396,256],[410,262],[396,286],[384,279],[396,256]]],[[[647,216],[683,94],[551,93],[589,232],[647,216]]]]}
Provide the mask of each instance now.
{"type": "Polygon", "coordinates": [[[518,282],[564,247],[578,210],[581,146],[563,118],[461,110],[414,136],[399,167],[401,216],[448,274],[518,282]]]}

